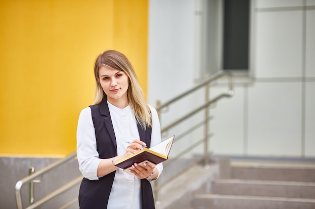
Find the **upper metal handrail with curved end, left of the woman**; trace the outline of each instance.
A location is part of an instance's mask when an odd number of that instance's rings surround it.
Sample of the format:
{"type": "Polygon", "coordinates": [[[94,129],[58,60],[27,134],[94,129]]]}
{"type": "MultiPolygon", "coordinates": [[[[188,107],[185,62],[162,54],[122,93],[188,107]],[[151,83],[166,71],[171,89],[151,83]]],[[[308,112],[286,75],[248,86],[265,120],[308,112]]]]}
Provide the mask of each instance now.
{"type": "MultiPolygon", "coordinates": [[[[28,175],[28,176],[24,177],[23,179],[19,180],[15,185],[15,197],[16,197],[17,209],[23,209],[21,188],[24,184],[34,181],[35,178],[37,178],[38,176],[45,174],[46,172],[50,171],[51,169],[53,169],[59,165],[62,165],[63,163],[73,159],[74,157],[76,157],[76,152],[73,152],[72,154],[69,154],[65,158],[57,160],[57,161],[43,167],[42,169],[34,172],[33,174],[28,175]]],[[[33,208],[33,207],[28,207],[28,208],[33,208]]]]}

